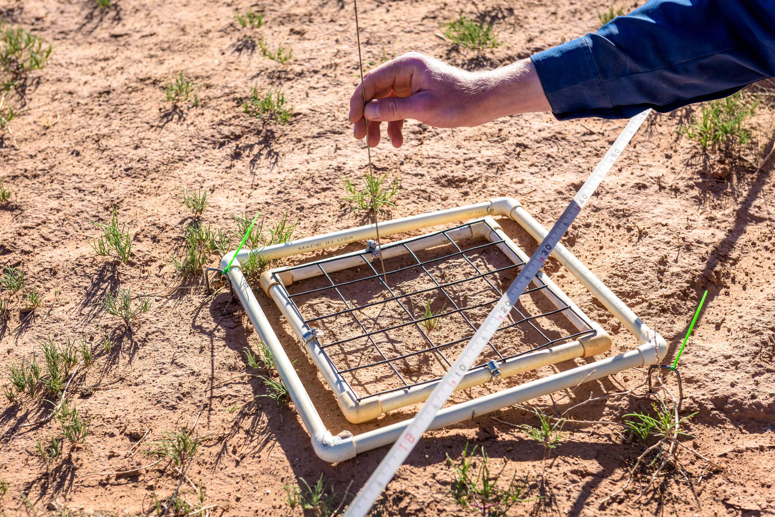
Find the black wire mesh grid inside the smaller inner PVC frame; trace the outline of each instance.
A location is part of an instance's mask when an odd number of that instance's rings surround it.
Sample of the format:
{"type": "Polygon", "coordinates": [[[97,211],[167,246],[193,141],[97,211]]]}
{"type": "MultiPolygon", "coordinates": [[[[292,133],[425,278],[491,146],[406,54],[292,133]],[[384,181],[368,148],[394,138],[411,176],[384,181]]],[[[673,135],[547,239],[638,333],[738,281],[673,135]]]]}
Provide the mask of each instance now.
{"type": "MultiPolygon", "coordinates": [[[[494,229],[485,219],[384,245],[384,257],[401,248],[384,258],[384,272],[368,251],[340,271],[340,257],[319,260],[312,263],[317,276],[284,287],[305,324],[322,331],[322,353],[356,400],[443,377],[525,264],[501,250],[505,240],[453,237],[474,224],[494,229]],[[434,236],[443,236],[436,246],[412,246],[434,236]]],[[[536,277],[471,369],[593,333],[583,314],[536,277]]]]}

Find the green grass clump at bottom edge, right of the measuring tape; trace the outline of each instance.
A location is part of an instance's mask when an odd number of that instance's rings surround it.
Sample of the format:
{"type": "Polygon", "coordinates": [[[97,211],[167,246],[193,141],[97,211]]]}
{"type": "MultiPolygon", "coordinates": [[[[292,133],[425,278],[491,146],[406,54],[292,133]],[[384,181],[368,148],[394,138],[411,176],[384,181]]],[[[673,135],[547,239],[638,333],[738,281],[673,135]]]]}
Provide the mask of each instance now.
{"type": "Polygon", "coordinates": [[[506,468],[504,463],[496,475],[490,473],[490,457],[484,452],[484,447],[477,457],[477,448],[468,453],[469,443],[466,443],[460,462],[453,461],[446,455],[449,468],[452,469],[452,491],[455,502],[467,508],[474,508],[481,515],[506,515],[517,503],[531,501],[525,499],[528,492],[528,478],[517,479],[512,476],[508,484],[501,481],[506,468]],[[477,467],[478,463],[478,467],[477,467]]]}

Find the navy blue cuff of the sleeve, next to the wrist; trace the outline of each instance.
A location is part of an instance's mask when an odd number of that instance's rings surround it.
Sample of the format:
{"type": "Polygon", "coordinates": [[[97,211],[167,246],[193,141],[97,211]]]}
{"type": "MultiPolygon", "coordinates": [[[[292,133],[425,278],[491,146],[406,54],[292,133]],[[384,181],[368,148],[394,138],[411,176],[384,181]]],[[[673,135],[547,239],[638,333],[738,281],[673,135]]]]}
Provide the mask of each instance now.
{"type": "Polygon", "coordinates": [[[622,118],[598,73],[587,36],[536,53],[531,59],[558,120],[622,118]]]}

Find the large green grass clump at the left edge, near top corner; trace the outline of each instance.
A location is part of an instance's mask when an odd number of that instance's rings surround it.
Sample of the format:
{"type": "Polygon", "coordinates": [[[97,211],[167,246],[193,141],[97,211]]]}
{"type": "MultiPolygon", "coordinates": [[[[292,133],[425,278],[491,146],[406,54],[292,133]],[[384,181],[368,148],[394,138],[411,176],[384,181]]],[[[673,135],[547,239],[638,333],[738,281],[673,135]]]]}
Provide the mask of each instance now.
{"type": "Polygon", "coordinates": [[[51,46],[22,27],[0,19],[0,91],[8,91],[31,71],[43,70],[51,46]]]}

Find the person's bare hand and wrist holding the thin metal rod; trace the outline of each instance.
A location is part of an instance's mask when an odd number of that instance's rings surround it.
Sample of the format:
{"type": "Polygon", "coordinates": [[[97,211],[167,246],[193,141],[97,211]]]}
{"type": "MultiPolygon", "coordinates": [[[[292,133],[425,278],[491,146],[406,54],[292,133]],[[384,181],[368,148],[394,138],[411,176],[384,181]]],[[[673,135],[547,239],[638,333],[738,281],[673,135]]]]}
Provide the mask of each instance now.
{"type": "Polygon", "coordinates": [[[350,97],[349,119],[358,140],[366,136],[369,121],[372,147],[380,142],[382,122],[387,122],[387,136],[400,147],[405,119],[436,127],[473,127],[505,115],[546,110],[549,102],[529,59],[494,71],[470,72],[410,52],[365,74],[350,97]]]}

